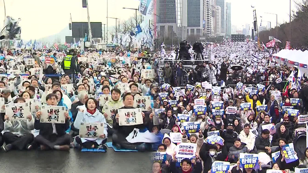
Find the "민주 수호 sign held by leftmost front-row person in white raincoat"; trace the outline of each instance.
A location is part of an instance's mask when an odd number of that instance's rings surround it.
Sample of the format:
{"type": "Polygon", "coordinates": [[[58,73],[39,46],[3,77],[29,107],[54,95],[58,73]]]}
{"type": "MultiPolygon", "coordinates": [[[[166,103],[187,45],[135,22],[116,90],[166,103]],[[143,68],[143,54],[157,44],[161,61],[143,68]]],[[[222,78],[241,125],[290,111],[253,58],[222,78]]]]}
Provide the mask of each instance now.
{"type": "Polygon", "coordinates": [[[30,114],[28,103],[13,103],[5,105],[5,113],[9,121],[26,120],[30,114]]]}

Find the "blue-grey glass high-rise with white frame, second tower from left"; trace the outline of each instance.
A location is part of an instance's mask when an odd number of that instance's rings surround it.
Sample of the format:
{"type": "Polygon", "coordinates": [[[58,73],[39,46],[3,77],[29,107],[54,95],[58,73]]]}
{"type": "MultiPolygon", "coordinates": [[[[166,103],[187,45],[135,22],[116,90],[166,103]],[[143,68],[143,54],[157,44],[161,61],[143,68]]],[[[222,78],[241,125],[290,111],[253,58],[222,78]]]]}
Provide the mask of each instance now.
{"type": "Polygon", "coordinates": [[[187,33],[202,35],[203,30],[203,0],[187,1],[187,33]]]}

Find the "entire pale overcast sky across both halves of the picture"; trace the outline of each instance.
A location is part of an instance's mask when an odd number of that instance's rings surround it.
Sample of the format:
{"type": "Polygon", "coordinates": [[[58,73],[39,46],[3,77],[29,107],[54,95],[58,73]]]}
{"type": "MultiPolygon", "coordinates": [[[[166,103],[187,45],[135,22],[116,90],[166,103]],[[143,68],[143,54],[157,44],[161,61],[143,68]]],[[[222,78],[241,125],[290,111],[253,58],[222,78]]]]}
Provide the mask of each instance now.
{"type": "MultiPolygon", "coordinates": [[[[291,9],[295,10],[294,0],[291,9]]],[[[299,1],[299,0],[297,0],[299,1]]],[[[21,18],[22,38],[35,39],[56,34],[68,26],[70,13],[73,22],[87,22],[87,9],[82,8],[81,0],[5,0],[6,15],[21,18]],[[49,2],[49,3],[48,3],[49,2]]],[[[135,15],[135,10],[123,7],[138,8],[139,0],[109,0],[108,16],[126,20],[135,15]]],[[[278,14],[278,23],[289,21],[290,0],[226,0],[231,2],[231,24],[241,28],[242,25],[253,23],[253,9],[257,11],[258,25],[262,16],[262,26],[270,21],[276,26],[276,16],[264,12],[278,14]]],[[[107,0],[88,0],[91,22],[107,23],[107,0]]],[[[0,26],[3,26],[4,6],[0,1],[0,26]]],[[[115,24],[115,19],[108,20],[109,25],[115,24]]],[[[2,29],[2,27],[1,27],[2,29]]]]}

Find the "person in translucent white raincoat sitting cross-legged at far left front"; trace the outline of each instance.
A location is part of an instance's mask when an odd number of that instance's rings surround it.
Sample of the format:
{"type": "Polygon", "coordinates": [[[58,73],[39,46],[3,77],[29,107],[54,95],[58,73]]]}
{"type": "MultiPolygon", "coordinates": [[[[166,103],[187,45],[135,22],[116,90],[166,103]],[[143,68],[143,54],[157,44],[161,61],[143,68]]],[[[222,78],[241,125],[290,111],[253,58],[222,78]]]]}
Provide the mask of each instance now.
{"type": "MultiPolygon", "coordinates": [[[[14,100],[14,103],[25,103],[26,100],[19,97],[14,100]]],[[[8,116],[4,115],[4,130],[2,131],[3,140],[6,146],[2,146],[4,151],[10,151],[11,149],[18,150],[30,150],[34,136],[31,130],[34,129],[34,118],[30,115],[26,116],[26,120],[8,120],[8,116]]]]}

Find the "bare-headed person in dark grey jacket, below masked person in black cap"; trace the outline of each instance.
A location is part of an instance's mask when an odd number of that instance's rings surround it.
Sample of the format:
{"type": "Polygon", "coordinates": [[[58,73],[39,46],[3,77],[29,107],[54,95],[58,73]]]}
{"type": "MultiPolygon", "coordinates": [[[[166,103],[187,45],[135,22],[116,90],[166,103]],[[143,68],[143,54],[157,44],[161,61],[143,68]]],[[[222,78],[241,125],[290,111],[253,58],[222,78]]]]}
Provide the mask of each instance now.
{"type": "Polygon", "coordinates": [[[230,163],[236,163],[240,158],[240,153],[246,152],[248,152],[246,143],[241,142],[241,139],[237,138],[234,140],[234,145],[229,149],[228,161],[230,163]]]}

